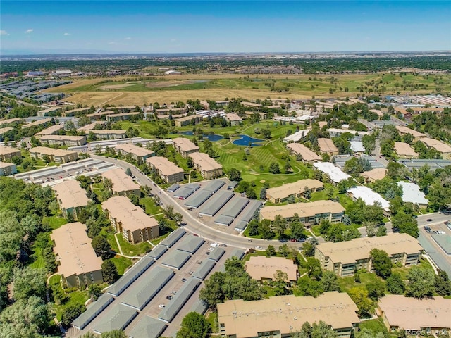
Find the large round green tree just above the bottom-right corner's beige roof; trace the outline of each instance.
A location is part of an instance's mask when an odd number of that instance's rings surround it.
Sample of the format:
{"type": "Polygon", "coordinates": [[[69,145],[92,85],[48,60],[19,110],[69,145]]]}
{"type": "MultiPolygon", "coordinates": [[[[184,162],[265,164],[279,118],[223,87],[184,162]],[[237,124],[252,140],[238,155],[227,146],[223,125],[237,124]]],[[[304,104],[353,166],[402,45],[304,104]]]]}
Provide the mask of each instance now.
{"type": "Polygon", "coordinates": [[[415,298],[432,296],[435,292],[435,275],[433,270],[414,265],[407,274],[407,295],[415,298]]]}

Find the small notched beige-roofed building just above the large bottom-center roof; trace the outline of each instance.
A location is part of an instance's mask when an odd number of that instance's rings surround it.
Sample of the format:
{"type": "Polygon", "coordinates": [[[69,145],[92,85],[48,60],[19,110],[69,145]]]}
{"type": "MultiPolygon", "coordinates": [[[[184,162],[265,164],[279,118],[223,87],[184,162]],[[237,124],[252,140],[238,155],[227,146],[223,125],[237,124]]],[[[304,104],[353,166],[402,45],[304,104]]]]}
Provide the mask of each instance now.
{"type": "Polygon", "coordinates": [[[285,257],[252,256],[246,261],[245,269],[253,280],[261,282],[274,280],[278,270],[287,274],[285,282],[292,284],[297,281],[297,265],[285,257]]]}

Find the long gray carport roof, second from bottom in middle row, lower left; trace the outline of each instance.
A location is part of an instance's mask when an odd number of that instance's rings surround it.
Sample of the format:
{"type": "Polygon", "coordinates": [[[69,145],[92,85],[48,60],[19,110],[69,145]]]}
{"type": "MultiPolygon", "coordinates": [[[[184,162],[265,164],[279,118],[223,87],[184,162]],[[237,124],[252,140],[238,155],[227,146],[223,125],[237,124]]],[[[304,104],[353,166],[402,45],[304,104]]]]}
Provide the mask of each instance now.
{"type": "Polygon", "coordinates": [[[133,284],[130,292],[123,298],[122,303],[132,306],[137,310],[142,310],[151,299],[158,294],[161,288],[171,280],[175,273],[173,270],[156,266],[149,273],[140,279],[140,282],[133,284]]]}

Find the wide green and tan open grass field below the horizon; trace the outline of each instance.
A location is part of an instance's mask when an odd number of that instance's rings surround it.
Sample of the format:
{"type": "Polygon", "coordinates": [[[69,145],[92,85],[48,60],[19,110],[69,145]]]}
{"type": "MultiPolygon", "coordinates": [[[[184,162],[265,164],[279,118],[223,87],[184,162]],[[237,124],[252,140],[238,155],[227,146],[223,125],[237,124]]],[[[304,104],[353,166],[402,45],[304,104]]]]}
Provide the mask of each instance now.
{"type": "Polygon", "coordinates": [[[127,78],[74,80],[71,84],[46,89],[64,92],[64,101],[87,106],[135,105],[149,102],[170,103],[187,99],[311,99],[355,96],[378,90],[383,94],[450,91],[451,75],[241,75],[186,74],[149,77],[134,81],[127,78]],[[333,79],[332,79],[333,77],[333,79]],[[111,80],[113,82],[105,82],[111,80]],[[407,86],[407,87],[406,87],[407,86]],[[415,87],[416,86],[416,87],[415,87]],[[347,88],[347,91],[346,91],[347,88]],[[333,93],[330,93],[332,91],[333,93]]]}

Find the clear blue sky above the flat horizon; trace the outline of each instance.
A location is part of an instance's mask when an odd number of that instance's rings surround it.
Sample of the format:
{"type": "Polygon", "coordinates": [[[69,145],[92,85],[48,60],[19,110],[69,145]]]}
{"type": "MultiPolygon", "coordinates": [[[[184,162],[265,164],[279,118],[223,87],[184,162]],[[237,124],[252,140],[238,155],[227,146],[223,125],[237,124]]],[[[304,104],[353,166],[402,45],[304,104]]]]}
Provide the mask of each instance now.
{"type": "Polygon", "coordinates": [[[27,53],[451,49],[450,1],[1,1],[0,49],[27,53]]]}

